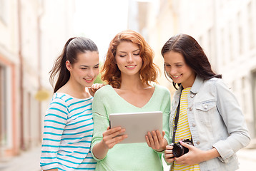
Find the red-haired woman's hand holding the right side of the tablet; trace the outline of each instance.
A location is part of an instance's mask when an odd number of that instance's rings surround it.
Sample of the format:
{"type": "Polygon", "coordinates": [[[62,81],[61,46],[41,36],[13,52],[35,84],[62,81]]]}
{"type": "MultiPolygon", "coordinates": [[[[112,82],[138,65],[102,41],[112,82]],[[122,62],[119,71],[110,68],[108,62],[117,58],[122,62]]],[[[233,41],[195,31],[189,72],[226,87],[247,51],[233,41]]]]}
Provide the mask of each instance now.
{"type": "Polygon", "coordinates": [[[165,135],[165,132],[162,131],[162,134],[161,134],[159,130],[157,131],[153,130],[151,133],[147,133],[146,135],[147,145],[159,152],[165,150],[165,147],[167,146],[167,140],[164,139],[164,135],[165,135]]]}

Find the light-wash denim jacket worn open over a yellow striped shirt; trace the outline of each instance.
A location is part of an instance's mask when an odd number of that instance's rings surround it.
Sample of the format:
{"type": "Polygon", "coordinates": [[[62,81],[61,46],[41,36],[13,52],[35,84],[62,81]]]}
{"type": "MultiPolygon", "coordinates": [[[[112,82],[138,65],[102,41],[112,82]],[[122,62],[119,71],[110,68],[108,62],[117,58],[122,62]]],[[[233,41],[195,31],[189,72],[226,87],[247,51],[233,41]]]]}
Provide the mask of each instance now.
{"type": "MultiPolygon", "coordinates": [[[[181,88],[174,93],[170,125],[179,103],[181,88]]],[[[220,157],[201,162],[200,170],[237,170],[235,152],[249,144],[250,135],[235,95],[222,79],[203,80],[197,76],[187,95],[187,102],[187,120],[194,146],[200,150],[215,147],[220,153],[220,157]]],[[[172,126],[169,133],[172,139],[172,126]]]]}

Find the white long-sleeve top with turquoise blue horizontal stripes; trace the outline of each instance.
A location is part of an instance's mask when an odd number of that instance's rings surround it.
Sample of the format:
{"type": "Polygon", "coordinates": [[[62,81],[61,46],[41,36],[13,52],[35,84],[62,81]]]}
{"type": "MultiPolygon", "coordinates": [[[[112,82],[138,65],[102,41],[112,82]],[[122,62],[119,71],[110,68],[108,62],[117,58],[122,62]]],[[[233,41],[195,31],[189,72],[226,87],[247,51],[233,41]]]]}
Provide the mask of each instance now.
{"type": "Polygon", "coordinates": [[[92,97],[78,99],[54,93],[44,118],[42,170],[95,170],[92,133],[92,97]]]}

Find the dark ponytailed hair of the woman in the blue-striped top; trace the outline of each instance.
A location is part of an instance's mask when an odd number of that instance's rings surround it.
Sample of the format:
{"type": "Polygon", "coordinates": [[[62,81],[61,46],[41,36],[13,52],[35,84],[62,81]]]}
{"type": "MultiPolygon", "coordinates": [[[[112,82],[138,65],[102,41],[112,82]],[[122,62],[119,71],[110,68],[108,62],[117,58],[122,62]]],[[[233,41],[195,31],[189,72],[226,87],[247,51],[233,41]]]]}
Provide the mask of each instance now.
{"type": "Polygon", "coordinates": [[[67,81],[69,81],[70,73],[66,67],[66,61],[71,64],[77,62],[77,54],[85,53],[86,51],[97,51],[98,48],[96,44],[89,38],[84,37],[74,37],[69,38],[65,44],[61,55],[56,58],[54,66],[52,67],[50,73],[50,83],[54,88],[54,93],[64,86],[67,81]],[[54,78],[57,76],[56,83],[54,85],[54,78]]]}

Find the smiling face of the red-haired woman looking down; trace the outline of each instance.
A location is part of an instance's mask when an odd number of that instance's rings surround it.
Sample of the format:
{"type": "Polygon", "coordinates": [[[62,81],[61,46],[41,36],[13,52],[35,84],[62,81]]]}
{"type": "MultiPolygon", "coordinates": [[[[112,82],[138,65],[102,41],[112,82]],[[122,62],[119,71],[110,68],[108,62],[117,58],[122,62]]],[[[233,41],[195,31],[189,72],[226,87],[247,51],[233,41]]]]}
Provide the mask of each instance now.
{"type": "Polygon", "coordinates": [[[142,58],[139,56],[139,46],[137,44],[130,41],[119,43],[115,60],[122,76],[139,76],[139,71],[142,68],[142,58]]]}

